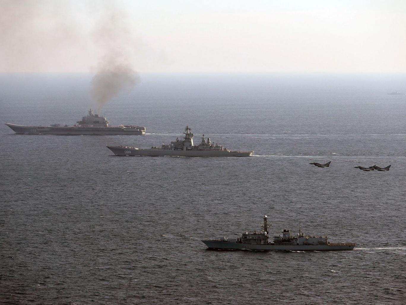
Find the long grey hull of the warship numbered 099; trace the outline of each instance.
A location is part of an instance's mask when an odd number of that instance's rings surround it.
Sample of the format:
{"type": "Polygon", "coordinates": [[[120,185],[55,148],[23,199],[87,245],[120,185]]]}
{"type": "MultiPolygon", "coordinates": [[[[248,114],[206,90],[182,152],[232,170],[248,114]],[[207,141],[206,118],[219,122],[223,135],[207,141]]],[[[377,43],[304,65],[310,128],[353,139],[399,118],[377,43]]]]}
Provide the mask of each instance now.
{"type": "Polygon", "coordinates": [[[252,151],[218,151],[218,150],[170,150],[170,149],[138,149],[130,147],[107,146],[117,156],[148,156],[148,157],[250,157],[252,151]]]}

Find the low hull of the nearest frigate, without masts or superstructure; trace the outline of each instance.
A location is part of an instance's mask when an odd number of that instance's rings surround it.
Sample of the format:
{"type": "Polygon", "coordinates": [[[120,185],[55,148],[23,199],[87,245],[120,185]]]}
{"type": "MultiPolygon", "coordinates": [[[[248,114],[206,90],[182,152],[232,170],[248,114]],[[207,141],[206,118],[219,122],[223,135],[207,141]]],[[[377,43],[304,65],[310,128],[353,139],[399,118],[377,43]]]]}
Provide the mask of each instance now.
{"type": "Polygon", "coordinates": [[[335,243],[334,245],[259,245],[259,244],[240,244],[236,242],[222,242],[213,240],[202,240],[207,248],[216,250],[256,250],[256,251],[340,251],[353,250],[355,244],[335,243]]]}

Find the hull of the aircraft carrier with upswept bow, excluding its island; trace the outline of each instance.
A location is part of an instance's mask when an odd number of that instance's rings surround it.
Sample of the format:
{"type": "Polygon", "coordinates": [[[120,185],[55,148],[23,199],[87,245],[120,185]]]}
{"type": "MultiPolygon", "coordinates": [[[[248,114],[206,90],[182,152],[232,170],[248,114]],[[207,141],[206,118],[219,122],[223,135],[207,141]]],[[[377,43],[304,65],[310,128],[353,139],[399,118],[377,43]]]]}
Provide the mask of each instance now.
{"type": "Polygon", "coordinates": [[[6,123],[15,133],[30,135],[143,135],[145,127],[24,126],[6,123]]]}

